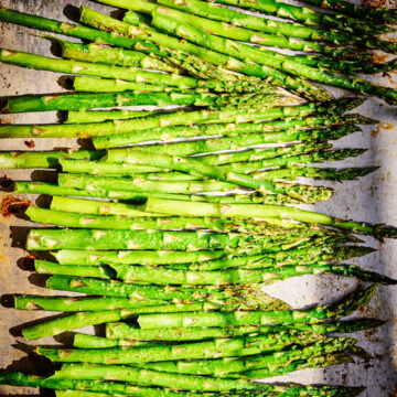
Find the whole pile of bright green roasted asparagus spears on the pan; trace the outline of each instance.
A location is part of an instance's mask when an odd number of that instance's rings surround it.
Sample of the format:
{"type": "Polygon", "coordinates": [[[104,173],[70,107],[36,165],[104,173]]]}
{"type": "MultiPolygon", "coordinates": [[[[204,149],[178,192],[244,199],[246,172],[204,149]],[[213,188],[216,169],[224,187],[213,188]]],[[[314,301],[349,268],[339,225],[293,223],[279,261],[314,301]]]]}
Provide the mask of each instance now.
{"type": "Polygon", "coordinates": [[[302,176],[345,181],[376,170],[320,165],[361,155],[332,141],[378,121],[351,112],[364,99],[334,99],[313,83],[397,104],[394,88],[357,77],[397,68],[372,52],[396,53],[378,35],[394,31],[397,12],[343,0],[307,0],[332,14],[271,0],[100,2],[128,11],[120,21],[82,7],[82,24],[72,24],[0,9],[0,21],[85,41],[41,35],[61,58],[0,50],[2,63],[71,74],[74,89],[10,98],[4,112],[66,118],[2,126],[0,138],[84,138],[94,148],[0,152],[1,169],[60,171],[56,183],[17,181],[14,193],[51,196],[50,208],[25,210],[51,226],[32,228],[25,248],[51,253],[33,260],[49,289],[79,293],[15,296],[18,310],[68,313],[22,333],[33,341],[105,324],[101,336],[74,333],[73,346],[37,346],[54,363],[49,376],[0,372],[0,384],[58,397],[361,394],[257,380],[367,358],[339,334],[384,324],[342,319],[369,302],[375,283],[396,281],[344,261],[374,251],[353,234],[384,239],[397,229],[294,205],[334,194],[302,176]],[[124,108],[147,105],[155,110],[124,108]],[[304,310],[264,292],[325,273],[372,285],[304,310]]]}

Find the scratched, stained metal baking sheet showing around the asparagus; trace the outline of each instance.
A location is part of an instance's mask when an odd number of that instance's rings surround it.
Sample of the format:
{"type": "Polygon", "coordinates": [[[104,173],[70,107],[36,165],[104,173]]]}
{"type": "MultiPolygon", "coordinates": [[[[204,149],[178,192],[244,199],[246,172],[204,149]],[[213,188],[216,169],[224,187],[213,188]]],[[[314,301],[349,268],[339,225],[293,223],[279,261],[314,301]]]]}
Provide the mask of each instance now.
{"type": "MultiPolygon", "coordinates": [[[[36,13],[57,20],[67,21],[73,15],[71,7],[81,3],[95,9],[111,11],[111,9],[89,2],[87,0],[2,0],[1,6],[20,11],[36,13]],[[66,8],[68,7],[68,8],[66,8]],[[65,9],[66,8],[66,9],[65,9]],[[65,15],[67,14],[67,17],[65,15]]],[[[34,36],[39,33],[34,30],[0,24],[0,45],[2,47],[29,51],[37,54],[50,55],[50,43],[34,36]]],[[[73,39],[72,39],[73,40],[73,39]]],[[[63,88],[57,84],[60,74],[52,72],[31,71],[17,66],[0,65],[0,97],[58,93],[63,88]]],[[[382,79],[375,82],[397,86],[393,81],[382,79]]],[[[336,92],[336,95],[343,95],[336,92]]],[[[397,116],[395,108],[387,106],[382,100],[368,99],[360,109],[360,112],[375,117],[383,121],[377,128],[365,128],[364,132],[354,133],[336,142],[337,147],[364,147],[368,151],[358,159],[348,160],[343,167],[376,164],[380,169],[356,182],[344,184],[331,183],[336,189],[335,196],[328,203],[318,205],[318,210],[331,213],[340,217],[354,218],[366,222],[384,222],[397,226],[396,198],[397,198],[397,116]]],[[[14,116],[1,116],[2,122],[52,122],[56,120],[55,114],[22,114],[14,116]]],[[[51,150],[54,148],[78,147],[73,139],[34,140],[34,149],[29,149],[23,139],[1,140],[0,150],[51,150]]],[[[340,167],[340,164],[335,164],[340,167]]],[[[52,178],[52,172],[45,172],[52,178]]],[[[0,176],[7,175],[14,180],[41,178],[42,172],[25,170],[2,170],[0,176]]],[[[7,192],[0,192],[0,200],[7,192]]],[[[25,196],[35,201],[35,196],[25,196]]],[[[19,266],[19,259],[26,255],[21,248],[26,228],[31,223],[18,218],[3,218],[0,222],[0,368],[45,371],[45,363],[34,355],[26,355],[29,347],[23,339],[18,336],[18,325],[41,319],[43,312],[22,312],[7,308],[7,294],[19,293],[49,293],[40,287],[40,279],[31,276],[19,266]],[[14,330],[17,328],[17,330],[14,330]],[[11,330],[11,331],[10,331],[11,330]]],[[[387,276],[397,278],[397,240],[386,240],[378,244],[368,238],[368,244],[379,248],[372,254],[354,262],[366,269],[376,270],[387,276]]],[[[290,302],[296,308],[325,303],[339,299],[352,291],[360,283],[355,280],[335,277],[300,277],[292,280],[276,283],[267,288],[267,291],[290,302]]],[[[393,287],[379,287],[376,297],[363,312],[357,315],[377,316],[388,319],[387,325],[377,331],[357,334],[360,345],[373,354],[369,362],[357,362],[351,365],[341,365],[328,369],[304,369],[290,376],[268,379],[269,382],[293,380],[307,384],[343,384],[366,386],[363,397],[391,397],[397,396],[397,289],[393,287]]],[[[43,343],[54,343],[49,339],[43,343]]],[[[30,388],[12,388],[0,386],[0,396],[7,395],[36,395],[36,390],[30,388]]]]}

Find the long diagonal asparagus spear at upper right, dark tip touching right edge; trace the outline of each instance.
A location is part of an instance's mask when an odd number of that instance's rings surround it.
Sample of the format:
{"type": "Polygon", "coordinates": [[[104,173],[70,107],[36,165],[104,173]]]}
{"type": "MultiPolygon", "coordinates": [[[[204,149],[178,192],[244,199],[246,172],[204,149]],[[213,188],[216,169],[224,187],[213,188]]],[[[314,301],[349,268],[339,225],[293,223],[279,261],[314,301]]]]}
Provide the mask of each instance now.
{"type": "Polygon", "coordinates": [[[289,72],[296,76],[309,78],[314,82],[324,83],[353,92],[358,92],[363,95],[376,96],[386,100],[388,104],[397,104],[397,90],[394,88],[376,86],[369,82],[358,78],[352,79],[334,74],[329,74],[325,71],[320,71],[308,65],[302,65],[299,62],[281,60],[271,54],[253,49],[250,45],[246,45],[244,43],[233,42],[233,45],[230,45],[228,40],[208,34],[195,26],[174,20],[168,17],[167,13],[161,12],[161,9],[158,9],[155,12],[153,12],[152,23],[157,28],[162,29],[170,34],[178,35],[181,39],[191,41],[204,47],[210,47],[213,50],[215,49],[219,53],[235,56],[239,60],[248,58],[253,62],[257,62],[260,65],[289,72]]]}

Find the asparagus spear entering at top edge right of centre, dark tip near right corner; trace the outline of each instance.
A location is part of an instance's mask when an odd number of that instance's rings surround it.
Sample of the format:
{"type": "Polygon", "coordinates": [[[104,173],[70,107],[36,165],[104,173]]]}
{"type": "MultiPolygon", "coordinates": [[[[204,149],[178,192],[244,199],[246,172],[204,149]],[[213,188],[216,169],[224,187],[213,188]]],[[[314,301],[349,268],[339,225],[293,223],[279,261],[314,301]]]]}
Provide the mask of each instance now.
{"type": "Polygon", "coordinates": [[[390,31],[387,26],[372,24],[368,21],[361,21],[347,18],[342,14],[330,15],[321,13],[305,7],[288,4],[275,0],[218,0],[219,3],[236,6],[254,11],[261,11],[266,14],[291,19],[305,25],[324,25],[345,31],[347,33],[365,32],[368,34],[379,34],[390,31]]]}

